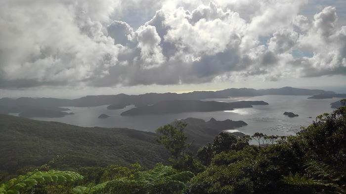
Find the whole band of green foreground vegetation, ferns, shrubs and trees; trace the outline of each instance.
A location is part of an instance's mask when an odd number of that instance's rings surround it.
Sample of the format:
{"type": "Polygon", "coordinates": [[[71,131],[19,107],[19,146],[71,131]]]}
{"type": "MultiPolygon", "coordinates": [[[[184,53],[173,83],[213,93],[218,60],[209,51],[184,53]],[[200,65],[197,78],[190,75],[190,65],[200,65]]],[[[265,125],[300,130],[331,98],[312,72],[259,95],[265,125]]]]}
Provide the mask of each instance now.
{"type": "MultiPolygon", "coordinates": [[[[76,174],[75,180],[61,184],[43,181],[14,187],[7,178],[2,182],[22,193],[346,193],[345,106],[318,116],[295,136],[257,133],[253,138],[259,145],[249,145],[248,135],[239,138],[221,132],[195,154],[189,151],[185,125],[179,122],[157,130],[158,141],[171,153],[170,166],[158,163],[146,169],[134,163],[80,168],[75,171],[83,175],[82,180],[76,174]]],[[[6,193],[5,189],[1,192],[6,193]]]]}

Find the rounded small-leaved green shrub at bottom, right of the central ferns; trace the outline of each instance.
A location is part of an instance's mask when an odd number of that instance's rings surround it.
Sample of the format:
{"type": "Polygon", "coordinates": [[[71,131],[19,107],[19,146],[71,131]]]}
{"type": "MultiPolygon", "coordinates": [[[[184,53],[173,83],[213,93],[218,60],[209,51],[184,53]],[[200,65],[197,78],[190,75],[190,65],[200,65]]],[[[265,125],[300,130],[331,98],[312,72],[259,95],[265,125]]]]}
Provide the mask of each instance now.
{"type": "Polygon", "coordinates": [[[245,151],[231,151],[215,156],[213,163],[208,168],[191,179],[186,193],[188,194],[232,194],[252,193],[254,186],[249,177],[257,172],[255,156],[246,156],[245,151]],[[233,156],[239,154],[239,156],[233,156]],[[228,155],[228,156],[227,156],[228,155]],[[223,160],[223,157],[228,159],[223,160]],[[234,160],[236,158],[236,160],[234,160]],[[227,162],[234,161],[234,162],[227,162]]]}

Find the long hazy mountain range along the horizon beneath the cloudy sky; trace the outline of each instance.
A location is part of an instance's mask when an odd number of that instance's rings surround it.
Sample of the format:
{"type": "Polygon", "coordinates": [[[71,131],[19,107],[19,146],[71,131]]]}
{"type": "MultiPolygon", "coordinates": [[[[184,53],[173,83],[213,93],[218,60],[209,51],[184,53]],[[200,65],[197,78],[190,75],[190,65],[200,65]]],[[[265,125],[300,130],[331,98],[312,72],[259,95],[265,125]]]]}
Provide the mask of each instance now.
{"type": "Polygon", "coordinates": [[[308,90],[292,87],[284,87],[279,89],[255,90],[249,88],[231,88],[220,91],[195,91],[190,93],[148,93],[143,95],[100,95],[86,96],[77,99],[59,99],[59,98],[32,98],[20,97],[17,99],[1,98],[0,113],[20,113],[23,109],[18,110],[18,107],[29,107],[43,110],[58,110],[58,107],[75,106],[75,107],[90,107],[109,105],[108,109],[122,109],[127,105],[134,104],[137,107],[154,104],[163,100],[201,100],[207,98],[228,98],[228,97],[254,97],[263,95],[318,95],[327,94],[333,95],[334,92],[326,92],[323,90],[308,90]]]}

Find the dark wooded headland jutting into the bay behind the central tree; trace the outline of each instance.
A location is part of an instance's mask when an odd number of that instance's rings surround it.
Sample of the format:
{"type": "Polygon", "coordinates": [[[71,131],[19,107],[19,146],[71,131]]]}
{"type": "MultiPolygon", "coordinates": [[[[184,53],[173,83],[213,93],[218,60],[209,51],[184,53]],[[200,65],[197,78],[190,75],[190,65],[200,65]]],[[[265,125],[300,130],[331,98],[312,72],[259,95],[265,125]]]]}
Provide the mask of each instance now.
{"type": "MultiPolygon", "coordinates": [[[[187,135],[187,141],[192,141],[195,149],[212,142],[215,136],[223,130],[235,129],[248,125],[244,121],[232,121],[229,119],[224,121],[216,121],[214,118],[207,122],[203,119],[196,118],[187,118],[179,121],[187,124],[184,132],[187,135]]],[[[173,122],[172,125],[174,125],[175,122],[173,122]]],[[[241,132],[235,132],[234,134],[236,136],[245,135],[241,132]]]]}

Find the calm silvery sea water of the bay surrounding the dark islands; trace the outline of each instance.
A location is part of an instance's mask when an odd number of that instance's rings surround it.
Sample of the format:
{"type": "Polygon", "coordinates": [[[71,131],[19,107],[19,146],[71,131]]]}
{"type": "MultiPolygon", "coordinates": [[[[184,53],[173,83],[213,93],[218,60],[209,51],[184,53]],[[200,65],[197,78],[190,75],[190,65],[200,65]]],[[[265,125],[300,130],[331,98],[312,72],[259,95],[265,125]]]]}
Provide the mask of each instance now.
{"type": "MultiPolygon", "coordinates": [[[[253,108],[240,108],[233,111],[216,112],[189,112],[179,114],[145,115],[145,116],[121,116],[120,114],[134,106],[127,106],[121,110],[107,110],[107,105],[96,107],[67,107],[75,113],[62,118],[33,118],[41,121],[57,121],[83,127],[105,127],[105,128],[130,128],[144,131],[155,131],[158,127],[171,123],[175,119],[188,117],[200,118],[206,121],[211,118],[216,120],[231,119],[242,120],[248,126],[237,128],[246,134],[262,132],[265,134],[288,135],[295,134],[301,126],[308,126],[313,119],[322,113],[331,112],[330,103],[340,100],[333,99],[307,99],[309,96],[276,96],[268,95],[261,97],[237,97],[227,99],[206,99],[233,102],[239,100],[263,100],[269,105],[256,105],[253,108]],[[283,113],[294,112],[299,117],[289,118],[283,113]],[[100,114],[111,117],[98,119],[100,114]],[[309,118],[312,117],[312,118],[309,118]]],[[[234,130],[233,130],[234,131],[234,130]]]]}

